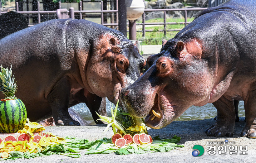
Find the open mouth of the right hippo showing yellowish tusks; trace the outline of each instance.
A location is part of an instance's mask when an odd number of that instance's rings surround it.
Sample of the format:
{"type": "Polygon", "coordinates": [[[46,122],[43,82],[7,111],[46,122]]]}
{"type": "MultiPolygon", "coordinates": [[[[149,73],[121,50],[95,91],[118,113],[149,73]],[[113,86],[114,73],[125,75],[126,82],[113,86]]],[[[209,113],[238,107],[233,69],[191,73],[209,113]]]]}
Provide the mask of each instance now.
{"type": "Polygon", "coordinates": [[[148,127],[159,129],[167,124],[167,119],[173,119],[173,107],[163,108],[162,103],[159,102],[158,94],[155,95],[154,105],[149,114],[145,117],[145,123],[148,127]]]}

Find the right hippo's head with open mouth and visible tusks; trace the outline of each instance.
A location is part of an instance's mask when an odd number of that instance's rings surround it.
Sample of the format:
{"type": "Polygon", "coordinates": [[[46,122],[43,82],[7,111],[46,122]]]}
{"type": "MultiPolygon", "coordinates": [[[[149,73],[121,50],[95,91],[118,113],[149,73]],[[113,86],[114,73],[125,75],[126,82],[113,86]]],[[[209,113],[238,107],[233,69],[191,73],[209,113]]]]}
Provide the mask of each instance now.
{"type": "Polygon", "coordinates": [[[128,88],[121,101],[131,115],[145,117],[147,126],[165,127],[192,105],[209,102],[215,68],[203,59],[196,39],[163,41],[159,54],[151,55],[150,68],[128,88]],[[211,66],[210,66],[211,67],[211,66]]]}

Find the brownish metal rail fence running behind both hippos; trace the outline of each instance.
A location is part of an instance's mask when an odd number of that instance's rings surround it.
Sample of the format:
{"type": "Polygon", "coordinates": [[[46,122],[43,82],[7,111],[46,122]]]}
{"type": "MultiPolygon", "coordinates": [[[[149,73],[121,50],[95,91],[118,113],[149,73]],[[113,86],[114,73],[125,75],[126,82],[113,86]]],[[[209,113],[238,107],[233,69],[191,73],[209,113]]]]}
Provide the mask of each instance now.
{"type": "MultiPolygon", "coordinates": [[[[1,7],[1,6],[0,6],[1,7]]],[[[166,31],[180,31],[181,29],[166,29],[166,25],[175,25],[175,24],[184,24],[186,26],[188,23],[187,21],[187,12],[188,11],[201,11],[206,8],[175,8],[175,9],[145,9],[143,15],[142,15],[142,23],[137,23],[136,25],[142,25],[142,30],[137,32],[142,32],[142,36],[145,36],[145,32],[151,32],[153,30],[146,30],[145,26],[147,25],[163,25],[164,29],[159,30],[163,31],[164,35],[166,36],[166,31]],[[170,11],[184,11],[184,22],[166,22],[166,12],[170,11]],[[145,22],[145,16],[148,12],[164,12],[163,22],[145,22]]],[[[116,0],[116,10],[103,10],[103,1],[101,1],[101,10],[82,10],[82,2],[79,2],[79,10],[75,10],[71,7],[69,10],[67,9],[61,9],[61,2],[59,2],[59,9],[57,11],[40,11],[40,2],[37,2],[37,10],[38,11],[19,11],[18,8],[18,2],[16,2],[16,12],[22,13],[25,17],[37,17],[37,23],[41,23],[41,16],[42,14],[53,14],[52,19],[56,18],[75,18],[75,15],[77,14],[79,19],[86,19],[86,13],[100,13],[101,15],[101,24],[104,26],[112,26],[113,28],[118,26],[118,0],[116,0]],[[105,23],[104,20],[104,13],[116,13],[116,20],[112,21],[111,23],[105,23]]],[[[0,15],[2,13],[0,10],[0,15]]],[[[28,26],[33,26],[34,24],[29,23],[28,26]]],[[[128,23],[127,23],[128,25],[128,23]]]]}

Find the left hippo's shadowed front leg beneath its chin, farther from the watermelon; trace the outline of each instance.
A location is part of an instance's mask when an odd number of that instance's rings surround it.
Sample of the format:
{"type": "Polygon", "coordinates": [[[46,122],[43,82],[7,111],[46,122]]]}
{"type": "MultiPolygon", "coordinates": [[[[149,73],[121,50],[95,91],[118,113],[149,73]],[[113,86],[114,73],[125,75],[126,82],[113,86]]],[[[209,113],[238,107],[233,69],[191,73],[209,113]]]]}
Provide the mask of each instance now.
{"type": "Polygon", "coordinates": [[[106,98],[101,98],[96,94],[92,94],[90,92],[85,93],[85,104],[91,111],[91,115],[96,124],[103,123],[102,121],[96,121],[97,119],[101,119],[97,114],[102,116],[107,116],[106,112],[106,98]]]}

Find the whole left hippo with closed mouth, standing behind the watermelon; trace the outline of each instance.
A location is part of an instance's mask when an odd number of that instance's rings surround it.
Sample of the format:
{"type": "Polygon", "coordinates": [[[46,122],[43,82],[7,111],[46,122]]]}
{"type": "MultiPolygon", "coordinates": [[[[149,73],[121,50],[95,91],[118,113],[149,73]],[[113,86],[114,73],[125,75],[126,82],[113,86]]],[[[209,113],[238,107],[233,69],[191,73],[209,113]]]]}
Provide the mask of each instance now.
{"type": "MultiPolygon", "coordinates": [[[[86,103],[96,123],[106,100],[117,103],[121,89],[146,64],[121,32],[87,20],[54,19],[0,40],[0,64],[17,80],[17,98],[31,121],[53,117],[56,125],[80,125],[68,108],[86,103]]],[[[3,95],[0,95],[3,98],[3,95]]]]}

